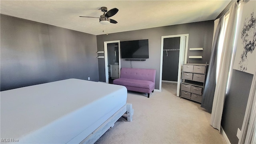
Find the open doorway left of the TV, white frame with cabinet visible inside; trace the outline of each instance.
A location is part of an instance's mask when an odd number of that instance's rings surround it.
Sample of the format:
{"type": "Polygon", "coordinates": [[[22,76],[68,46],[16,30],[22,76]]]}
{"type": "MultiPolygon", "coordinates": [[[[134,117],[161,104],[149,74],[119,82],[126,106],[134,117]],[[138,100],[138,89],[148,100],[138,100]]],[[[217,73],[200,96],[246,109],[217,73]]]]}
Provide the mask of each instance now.
{"type": "Polygon", "coordinates": [[[120,40],[104,42],[106,83],[120,77],[120,40]]]}

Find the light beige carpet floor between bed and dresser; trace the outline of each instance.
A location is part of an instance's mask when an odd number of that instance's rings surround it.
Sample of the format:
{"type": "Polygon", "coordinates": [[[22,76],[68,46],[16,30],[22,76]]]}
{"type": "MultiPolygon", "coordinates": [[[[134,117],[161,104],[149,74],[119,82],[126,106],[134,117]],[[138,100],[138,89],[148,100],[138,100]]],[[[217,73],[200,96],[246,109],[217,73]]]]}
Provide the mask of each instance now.
{"type": "Polygon", "coordinates": [[[226,144],[210,126],[199,103],[176,96],[177,84],[162,83],[162,92],[128,92],[132,122],[121,117],[95,144],[226,144]]]}

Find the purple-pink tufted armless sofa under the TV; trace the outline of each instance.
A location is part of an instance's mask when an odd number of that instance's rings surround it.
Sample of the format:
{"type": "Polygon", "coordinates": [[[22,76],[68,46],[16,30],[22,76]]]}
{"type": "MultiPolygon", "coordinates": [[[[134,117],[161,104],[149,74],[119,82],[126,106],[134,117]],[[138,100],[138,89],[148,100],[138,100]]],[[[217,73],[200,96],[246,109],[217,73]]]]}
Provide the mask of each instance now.
{"type": "Polygon", "coordinates": [[[113,84],[125,86],[127,90],[148,93],[154,92],[156,70],[144,68],[121,68],[120,78],[113,84]]]}

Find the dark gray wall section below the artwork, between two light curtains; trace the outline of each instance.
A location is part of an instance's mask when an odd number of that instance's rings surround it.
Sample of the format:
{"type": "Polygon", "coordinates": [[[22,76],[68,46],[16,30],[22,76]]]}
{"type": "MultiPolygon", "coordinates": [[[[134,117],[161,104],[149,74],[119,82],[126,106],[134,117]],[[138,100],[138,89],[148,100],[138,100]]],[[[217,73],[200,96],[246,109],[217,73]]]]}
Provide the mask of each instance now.
{"type": "Polygon", "coordinates": [[[242,129],[252,84],[252,74],[232,69],[230,89],[225,96],[221,126],[231,144],[238,144],[237,128],[242,129]]]}

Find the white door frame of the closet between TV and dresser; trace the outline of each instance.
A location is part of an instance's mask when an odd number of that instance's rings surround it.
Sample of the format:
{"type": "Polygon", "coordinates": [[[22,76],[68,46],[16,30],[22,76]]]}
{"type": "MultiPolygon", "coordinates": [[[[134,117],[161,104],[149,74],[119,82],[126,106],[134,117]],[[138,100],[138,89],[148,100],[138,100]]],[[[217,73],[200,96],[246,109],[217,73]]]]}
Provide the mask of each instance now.
{"type": "Polygon", "coordinates": [[[159,78],[159,91],[160,92],[162,91],[164,38],[180,37],[180,54],[179,54],[178,82],[177,82],[177,96],[180,96],[181,70],[182,70],[183,64],[187,63],[188,36],[189,36],[189,34],[161,36],[161,57],[160,57],[160,78],[159,78]]]}

